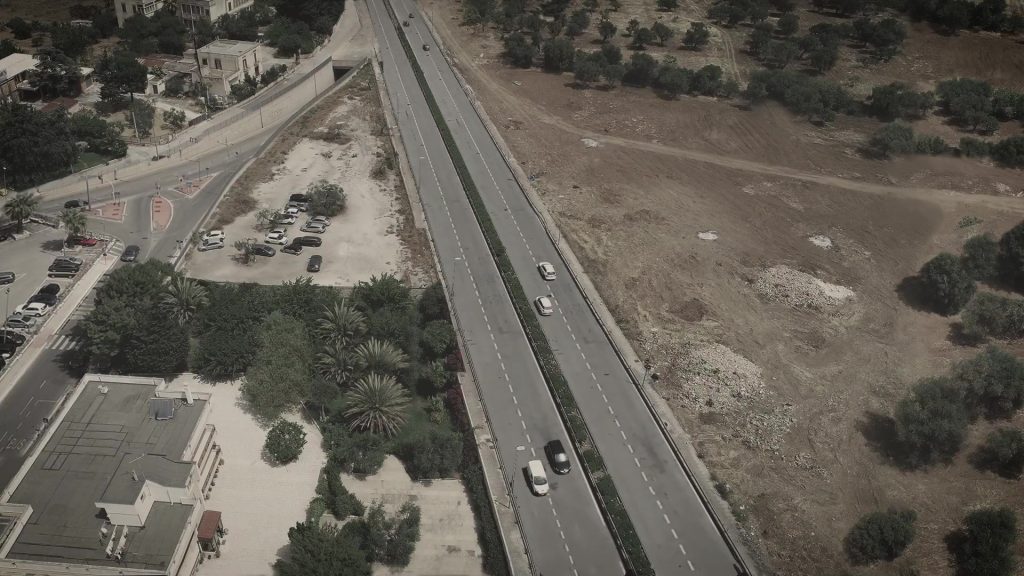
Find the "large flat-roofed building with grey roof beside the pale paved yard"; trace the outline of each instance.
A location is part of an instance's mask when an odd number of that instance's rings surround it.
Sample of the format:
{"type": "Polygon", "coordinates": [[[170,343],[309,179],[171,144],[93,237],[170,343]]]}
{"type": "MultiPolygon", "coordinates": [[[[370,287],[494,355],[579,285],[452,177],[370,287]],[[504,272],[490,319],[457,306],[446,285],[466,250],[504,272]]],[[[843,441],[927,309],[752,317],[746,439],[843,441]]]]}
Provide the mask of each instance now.
{"type": "Polygon", "coordinates": [[[0,496],[0,575],[190,576],[221,530],[209,414],[162,379],[87,374],[0,496]]]}

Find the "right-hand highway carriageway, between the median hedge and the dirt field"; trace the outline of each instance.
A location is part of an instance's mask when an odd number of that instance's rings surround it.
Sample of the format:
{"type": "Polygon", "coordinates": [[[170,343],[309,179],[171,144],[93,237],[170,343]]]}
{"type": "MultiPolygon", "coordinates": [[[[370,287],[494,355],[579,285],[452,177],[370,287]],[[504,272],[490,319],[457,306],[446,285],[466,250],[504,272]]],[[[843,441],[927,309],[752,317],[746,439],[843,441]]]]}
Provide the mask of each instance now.
{"type": "MultiPolygon", "coordinates": [[[[555,301],[554,316],[542,318],[542,325],[655,571],[735,576],[738,569],[731,550],[565,271],[554,242],[443,57],[419,6],[411,0],[389,1],[399,17],[416,14],[402,31],[414,46],[523,289],[529,297],[551,294],[555,301]],[[430,46],[429,51],[420,49],[424,44],[430,46]],[[561,273],[557,280],[545,282],[538,275],[541,261],[555,263],[561,273]]],[[[395,33],[393,29],[389,32],[395,33]]],[[[404,54],[399,59],[401,56],[404,54]]],[[[408,64],[400,63],[399,71],[406,86],[416,89],[408,64]]],[[[425,107],[414,105],[413,111],[421,125],[432,123],[425,107]]],[[[457,182],[446,190],[449,202],[455,196],[451,193],[461,193],[457,182]]],[[[479,243],[483,245],[482,239],[479,243]]],[[[490,400],[485,398],[490,406],[503,406],[490,400]]],[[[538,540],[549,543],[545,536],[527,537],[535,548],[538,540]]]]}

